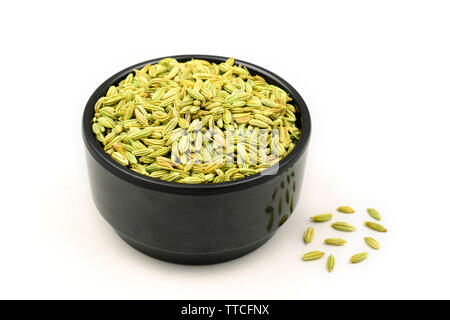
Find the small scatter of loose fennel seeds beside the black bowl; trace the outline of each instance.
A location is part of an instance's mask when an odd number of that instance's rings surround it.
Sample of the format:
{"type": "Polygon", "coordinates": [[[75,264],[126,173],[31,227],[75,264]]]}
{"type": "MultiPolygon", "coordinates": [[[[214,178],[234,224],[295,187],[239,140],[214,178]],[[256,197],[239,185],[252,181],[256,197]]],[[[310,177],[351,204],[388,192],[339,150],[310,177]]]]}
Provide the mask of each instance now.
{"type": "MultiPolygon", "coordinates": [[[[340,213],[345,213],[345,214],[355,213],[355,210],[349,206],[340,206],[336,209],[336,211],[338,211],[340,213]]],[[[378,221],[381,220],[381,215],[377,210],[369,208],[369,209],[367,209],[367,213],[373,219],[378,220],[378,221]]],[[[324,213],[324,214],[319,214],[319,215],[311,217],[311,222],[324,223],[324,222],[330,221],[332,218],[333,218],[333,214],[324,213]]],[[[365,221],[364,225],[367,228],[372,229],[373,231],[376,231],[376,232],[387,232],[387,229],[384,226],[382,226],[379,223],[373,222],[373,221],[365,221]]],[[[341,222],[341,221],[332,223],[331,227],[335,230],[342,231],[342,232],[357,231],[357,229],[350,223],[341,222]]],[[[315,233],[314,228],[309,227],[306,229],[306,231],[303,234],[303,241],[305,242],[306,245],[310,244],[314,240],[314,233],[315,233]]],[[[374,238],[364,237],[364,241],[367,244],[367,246],[369,246],[371,249],[373,249],[373,250],[380,249],[380,243],[377,240],[375,240],[374,238]]],[[[323,242],[324,242],[324,244],[329,245],[329,246],[343,246],[347,243],[347,241],[345,239],[341,239],[341,238],[326,238],[326,239],[324,239],[323,242]]],[[[310,252],[305,253],[302,256],[302,260],[303,261],[319,260],[324,255],[325,255],[325,252],[322,252],[322,251],[310,251],[310,252]]],[[[349,261],[352,264],[360,263],[360,262],[364,261],[368,257],[368,255],[369,255],[369,253],[365,252],[365,251],[356,253],[350,257],[349,261]]],[[[330,254],[328,256],[327,263],[326,263],[326,268],[327,268],[328,272],[333,271],[334,266],[335,266],[335,261],[336,261],[335,257],[332,254],[330,254]]]]}

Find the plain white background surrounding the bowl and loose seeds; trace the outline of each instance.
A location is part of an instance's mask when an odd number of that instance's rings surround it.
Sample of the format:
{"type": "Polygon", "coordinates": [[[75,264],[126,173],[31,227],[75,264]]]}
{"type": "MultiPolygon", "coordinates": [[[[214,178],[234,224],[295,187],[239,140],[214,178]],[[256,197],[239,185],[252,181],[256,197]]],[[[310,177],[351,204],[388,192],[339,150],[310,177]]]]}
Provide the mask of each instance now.
{"type": "MultiPolygon", "coordinates": [[[[0,298],[450,298],[448,1],[9,1],[1,32],[0,298]],[[262,248],[181,266],[127,246],[90,196],[81,114],[123,68],[233,56],[290,82],[313,135],[301,203],[262,248]],[[343,248],[308,217],[349,204],[343,248]],[[389,232],[361,226],[377,208],[389,232]],[[382,248],[359,265],[351,254],[382,248]],[[367,249],[366,249],[367,248],[367,249]],[[336,256],[303,263],[324,249],[336,256]]],[[[339,234],[342,235],[342,234],[339,234]]]]}

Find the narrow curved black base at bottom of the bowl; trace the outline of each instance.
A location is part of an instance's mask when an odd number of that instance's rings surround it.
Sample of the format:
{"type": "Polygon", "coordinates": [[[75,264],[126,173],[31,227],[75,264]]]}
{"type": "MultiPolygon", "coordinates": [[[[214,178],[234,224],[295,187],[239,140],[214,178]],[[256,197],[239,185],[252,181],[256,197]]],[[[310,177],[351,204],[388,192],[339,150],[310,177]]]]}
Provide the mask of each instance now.
{"type": "Polygon", "coordinates": [[[220,251],[220,252],[204,252],[204,253],[184,253],[184,252],[173,252],[173,251],[165,251],[160,250],[143,243],[137,242],[133,239],[130,239],[123,233],[117,231],[117,234],[130,246],[134,249],[159,260],[177,263],[177,264],[186,264],[186,265],[206,265],[206,264],[215,264],[221,263],[229,260],[233,260],[239,257],[242,257],[260,246],[269,240],[273,233],[268,234],[262,239],[258,241],[252,242],[246,246],[239,247],[232,250],[220,251]]]}

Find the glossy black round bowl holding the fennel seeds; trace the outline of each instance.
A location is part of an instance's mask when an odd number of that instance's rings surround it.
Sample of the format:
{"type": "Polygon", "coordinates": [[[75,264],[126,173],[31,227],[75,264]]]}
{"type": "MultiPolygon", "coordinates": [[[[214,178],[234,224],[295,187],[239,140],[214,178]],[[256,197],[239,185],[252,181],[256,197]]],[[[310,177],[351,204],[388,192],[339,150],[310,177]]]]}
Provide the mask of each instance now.
{"type": "MultiPolygon", "coordinates": [[[[224,57],[173,56],[220,63],[224,57]]],[[[91,131],[94,104],[109,86],[145,61],[106,80],[90,97],[83,114],[82,133],[92,196],[100,213],[120,237],[152,257],[182,264],[212,264],[245,255],[263,243],[292,214],[303,180],[311,119],[300,94],[274,73],[236,60],[252,74],[283,88],[301,117],[302,137],[279,167],[244,179],[218,184],[186,185],[149,178],[117,164],[103,151],[91,131]],[[267,174],[270,173],[270,174],[267,174]]]]}

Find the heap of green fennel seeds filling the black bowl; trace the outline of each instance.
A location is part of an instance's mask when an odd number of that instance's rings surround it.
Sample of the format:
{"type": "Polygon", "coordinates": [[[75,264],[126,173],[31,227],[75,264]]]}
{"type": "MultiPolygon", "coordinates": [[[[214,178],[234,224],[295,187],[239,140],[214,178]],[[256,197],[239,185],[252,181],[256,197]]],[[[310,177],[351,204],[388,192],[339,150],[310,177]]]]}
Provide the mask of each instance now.
{"type": "Polygon", "coordinates": [[[292,151],[301,130],[290,101],[232,58],[220,64],[166,58],[111,86],[95,104],[92,131],[112,159],[142,175],[226,182],[259,173],[292,151]],[[236,152],[224,153],[230,132],[236,152]]]}

